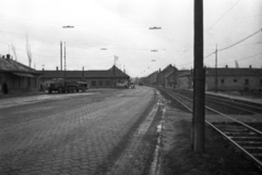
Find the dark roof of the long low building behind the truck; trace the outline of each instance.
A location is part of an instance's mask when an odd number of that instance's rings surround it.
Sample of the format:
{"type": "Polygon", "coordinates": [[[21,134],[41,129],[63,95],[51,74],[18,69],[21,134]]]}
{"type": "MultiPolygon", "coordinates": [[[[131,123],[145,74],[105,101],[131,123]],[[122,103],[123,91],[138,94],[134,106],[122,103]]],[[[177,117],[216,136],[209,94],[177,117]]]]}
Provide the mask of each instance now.
{"type": "MultiPolygon", "coordinates": [[[[64,77],[64,71],[38,71],[43,74],[44,77],[53,78],[53,77],[64,77]]],[[[83,71],[67,71],[67,77],[80,78],[83,76],[83,71]]],[[[116,67],[116,77],[130,78],[129,75],[116,67]]],[[[85,78],[112,78],[114,71],[112,67],[109,70],[96,70],[96,71],[84,71],[85,78]]]]}

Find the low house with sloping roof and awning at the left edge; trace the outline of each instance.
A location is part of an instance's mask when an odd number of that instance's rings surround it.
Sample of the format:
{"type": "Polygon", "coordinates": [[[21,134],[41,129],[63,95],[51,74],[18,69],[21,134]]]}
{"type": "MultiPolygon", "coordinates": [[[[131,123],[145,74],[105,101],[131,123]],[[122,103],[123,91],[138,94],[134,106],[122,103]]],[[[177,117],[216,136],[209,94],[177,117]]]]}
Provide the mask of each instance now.
{"type": "Polygon", "coordinates": [[[20,62],[11,60],[10,54],[0,58],[0,93],[5,83],[10,93],[39,90],[39,73],[20,62]]]}

